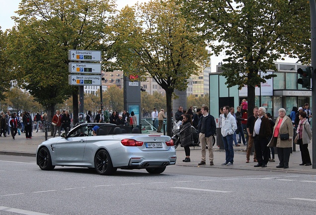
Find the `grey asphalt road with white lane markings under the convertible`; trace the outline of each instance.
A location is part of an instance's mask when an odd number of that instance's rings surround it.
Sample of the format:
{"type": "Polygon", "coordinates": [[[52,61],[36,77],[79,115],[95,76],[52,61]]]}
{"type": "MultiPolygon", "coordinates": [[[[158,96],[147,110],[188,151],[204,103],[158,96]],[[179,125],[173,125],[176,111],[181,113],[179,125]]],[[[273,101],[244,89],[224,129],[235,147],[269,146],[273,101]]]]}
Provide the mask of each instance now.
{"type": "Polygon", "coordinates": [[[0,155],[0,215],[315,215],[316,177],[169,166],[163,174],[87,168],[42,171],[0,155]]]}

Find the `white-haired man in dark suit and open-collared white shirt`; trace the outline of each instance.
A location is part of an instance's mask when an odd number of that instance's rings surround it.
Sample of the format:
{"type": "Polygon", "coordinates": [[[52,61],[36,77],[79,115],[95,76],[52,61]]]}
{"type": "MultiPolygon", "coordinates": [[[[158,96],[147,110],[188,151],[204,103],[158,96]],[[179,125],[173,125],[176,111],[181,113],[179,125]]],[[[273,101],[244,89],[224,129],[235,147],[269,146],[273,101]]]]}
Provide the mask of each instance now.
{"type": "Polygon", "coordinates": [[[271,134],[271,125],[269,119],[264,117],[264,114],[265,108],[260,107],[253,127],[253,143],[258,160],[258,164],[254,165],[254,167],[267,167],[269,161],[270,148],[267,145],[271,134]]]}

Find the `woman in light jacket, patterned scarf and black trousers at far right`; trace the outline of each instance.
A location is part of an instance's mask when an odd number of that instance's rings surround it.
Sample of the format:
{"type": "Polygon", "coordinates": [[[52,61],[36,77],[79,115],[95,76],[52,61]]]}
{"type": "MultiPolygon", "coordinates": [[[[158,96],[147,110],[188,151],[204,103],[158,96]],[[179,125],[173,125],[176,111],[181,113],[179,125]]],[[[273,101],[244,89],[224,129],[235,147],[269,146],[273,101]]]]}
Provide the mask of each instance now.
{"type": "Polygon", "coordinates": [[[296,144],[300,145],[300,150],[301,150],[301,156],[302,156],[302,163],[300,164],[301,166],[311,166],[311,156],[310,152],[308,149],[309,143],[311,142],[312,139],[312,130],[311,130],[311,125],[309,121],[306,118],[307,114],[306,112],[302,111],[299,113],[299,118],[300,122],[299,125],[297,126],[297,135],[294,140],[296,144]]]}

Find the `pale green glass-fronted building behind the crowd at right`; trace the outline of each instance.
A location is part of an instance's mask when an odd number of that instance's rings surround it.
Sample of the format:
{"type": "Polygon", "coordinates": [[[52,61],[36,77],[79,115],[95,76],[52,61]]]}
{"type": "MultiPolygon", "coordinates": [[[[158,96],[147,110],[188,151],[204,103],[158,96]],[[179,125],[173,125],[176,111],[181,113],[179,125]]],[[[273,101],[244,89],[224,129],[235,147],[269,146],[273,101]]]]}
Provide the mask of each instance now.
{"type": "MultiPolygon", "coordinates": [[[[306,68],[307,66],[295,63],[275,63],[277,72],[268,71],[267,74],[274,74],[276,77],[261,83],[261,88],[255,88],[255,106],[266,108],[273,117],[278,117],[279,108],[285,108],[286,114],[290,114],[292,108],[302,107],[305,103],[311,104],[312,91],[302,89],[302,85],[297,84],[297,69],[306,68]]],[[[243,99],[247,100],[247,87],[238,90],[237,86],[228,88],[225,84],[226,78],[220,76],[221,65],[217,66],[216,73],[210,73],[210,112],[215,117],[219,115],[219,108],[223,106],[236,107],[240,106],[243,99]]],[[[260,75],[266,73],[260,72],[260,75]]]]}

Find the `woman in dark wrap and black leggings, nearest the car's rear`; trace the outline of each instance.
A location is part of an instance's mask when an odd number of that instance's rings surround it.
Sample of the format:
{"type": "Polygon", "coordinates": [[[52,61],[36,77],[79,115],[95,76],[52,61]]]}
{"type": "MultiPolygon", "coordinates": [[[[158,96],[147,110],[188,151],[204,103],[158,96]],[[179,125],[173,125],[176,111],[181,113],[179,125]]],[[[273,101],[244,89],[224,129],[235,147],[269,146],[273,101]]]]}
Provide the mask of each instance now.
{"type": "Polygon", "coordinates": [[[190,162],[190,144],[193,142],[193,134],[191,130],[192,119],[190,114],[184,114],[182,125],[180,125],[180,145],[184,147],[185,159],[183,162],[190,162]]]}

